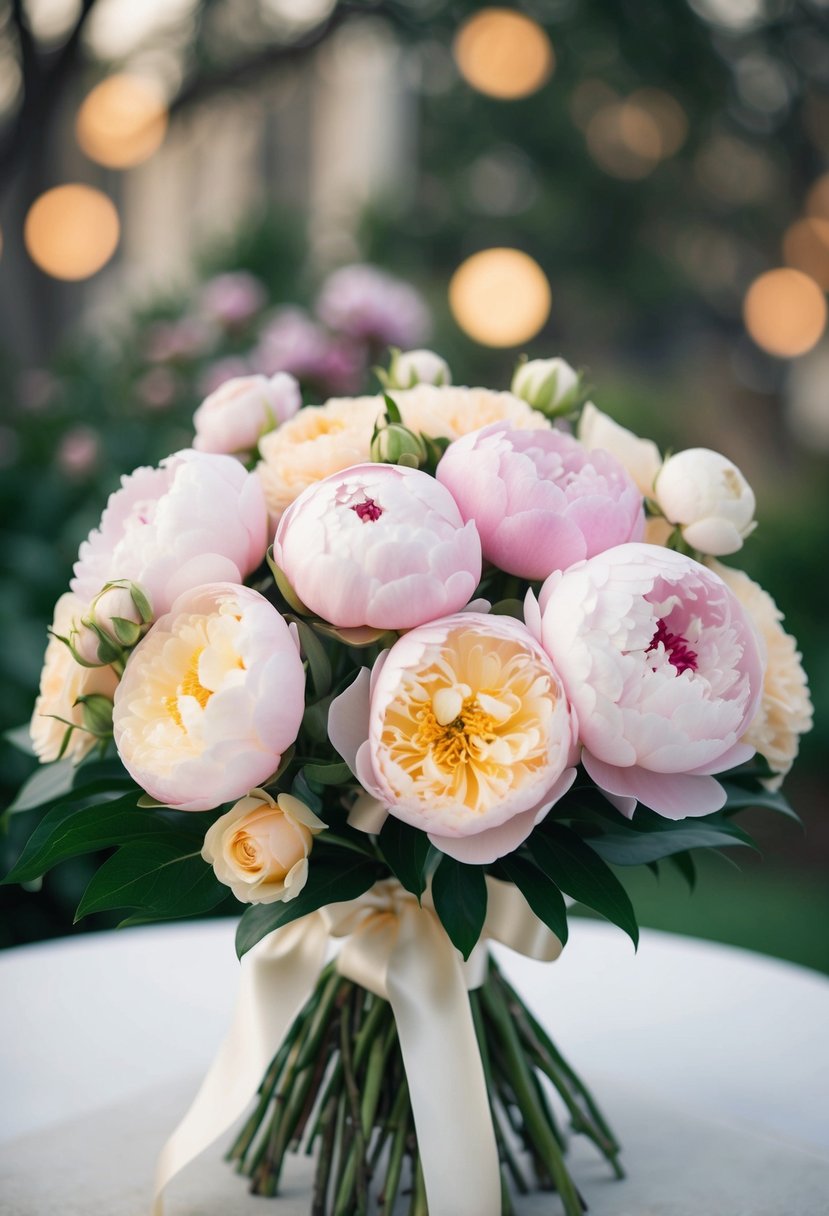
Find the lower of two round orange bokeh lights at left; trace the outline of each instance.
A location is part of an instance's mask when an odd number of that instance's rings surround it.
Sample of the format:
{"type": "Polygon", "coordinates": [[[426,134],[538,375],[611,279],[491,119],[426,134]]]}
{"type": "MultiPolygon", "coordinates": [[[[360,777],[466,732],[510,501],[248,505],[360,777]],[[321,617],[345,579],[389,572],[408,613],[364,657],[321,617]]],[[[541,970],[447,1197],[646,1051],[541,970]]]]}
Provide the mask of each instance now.
{"type": "Polygon", "coordinates": [[[29,257],[53,278],[89,278],[109,261],[120,225],[114,204],[91,186],[47,190],[26,216],[23,240],[29,257]]]}

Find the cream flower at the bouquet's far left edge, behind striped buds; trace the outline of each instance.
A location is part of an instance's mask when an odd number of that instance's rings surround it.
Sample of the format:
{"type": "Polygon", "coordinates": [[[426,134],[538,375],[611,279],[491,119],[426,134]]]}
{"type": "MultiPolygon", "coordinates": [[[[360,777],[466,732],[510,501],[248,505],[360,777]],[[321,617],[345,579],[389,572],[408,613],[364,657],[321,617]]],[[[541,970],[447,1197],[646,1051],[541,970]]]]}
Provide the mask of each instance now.
{"type": "Polygon", "coordinates": [[[85,608],[71,591],[55,604],[51,637],[40,675],[40,694],[29,726],[32,745],[41,762],[57,760],[67,730],[71,731],[63,749],[67,759],[78,764],[91,751],[97,737],[84,730],[84,706],[79,704],[79,698],[94,694],[112,698],[118,685],[112,668],[81,666],[73,659],[67,643],[61,641],[73,632],[85,608]]]}

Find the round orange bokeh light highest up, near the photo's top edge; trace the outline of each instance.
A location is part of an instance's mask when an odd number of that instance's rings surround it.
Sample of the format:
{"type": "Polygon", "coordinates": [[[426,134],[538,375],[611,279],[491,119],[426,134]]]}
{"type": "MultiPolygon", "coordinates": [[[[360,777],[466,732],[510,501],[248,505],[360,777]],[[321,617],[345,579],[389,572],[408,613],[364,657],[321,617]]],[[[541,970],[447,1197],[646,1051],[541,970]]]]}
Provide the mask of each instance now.
{"type": "Polygon", "coordinates": [[[553,46],[537,22],[512,9],[483,9],[455,39],[455,61],[467,84],[489,97],[529,97],[549,79],[553,46]]]}

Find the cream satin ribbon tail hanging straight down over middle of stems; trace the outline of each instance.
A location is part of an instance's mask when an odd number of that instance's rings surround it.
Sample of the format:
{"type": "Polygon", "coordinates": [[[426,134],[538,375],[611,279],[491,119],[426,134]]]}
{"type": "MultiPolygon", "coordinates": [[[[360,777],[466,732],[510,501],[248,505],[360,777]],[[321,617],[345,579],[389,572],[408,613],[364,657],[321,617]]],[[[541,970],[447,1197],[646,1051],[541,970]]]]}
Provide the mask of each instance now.
{"type": "Polygon", "coordinates": [[[459,956],[425,910],[400,919],[385,986],[429,1216],[501,1216],[501,1169],[459,956]]]}

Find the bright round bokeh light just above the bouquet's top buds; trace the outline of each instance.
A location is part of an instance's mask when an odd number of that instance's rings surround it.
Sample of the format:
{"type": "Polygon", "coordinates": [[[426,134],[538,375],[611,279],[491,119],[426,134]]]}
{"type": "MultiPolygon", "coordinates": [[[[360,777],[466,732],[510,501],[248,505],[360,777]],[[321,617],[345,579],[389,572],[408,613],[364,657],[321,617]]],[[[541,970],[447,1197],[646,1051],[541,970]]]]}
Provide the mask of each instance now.
{"type": "Polygon", "coordinates": [[[543,270],[520,249],[483,249],[452,275],[449,303],[461,328],[485,347],[517,347],[542,328],[552,304],[543,270]]]}

